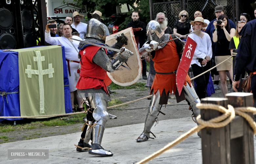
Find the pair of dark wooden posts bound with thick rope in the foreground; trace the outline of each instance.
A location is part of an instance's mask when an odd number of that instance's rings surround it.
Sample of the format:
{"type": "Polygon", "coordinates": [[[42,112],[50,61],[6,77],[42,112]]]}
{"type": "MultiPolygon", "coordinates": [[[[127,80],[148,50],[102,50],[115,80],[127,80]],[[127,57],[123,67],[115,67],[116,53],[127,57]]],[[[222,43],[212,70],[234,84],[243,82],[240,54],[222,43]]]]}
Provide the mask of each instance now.
{"type": "MultiPolygon", "coordinates": [[[[227,108],[252,107],[252,93],[233,92],[226,98],[203,98],[202,103],[212,103],[227,108]]],[[[215,110],[201,110],[201,118],[209,120],[222,113],[215,110]]],[[[249,113],[253,117],[252,113],[249,113]]],[[[241,116],[235,116],[231,123],[221,128],[201,130],[203,164],[254,164],[253,130],[241,116]]]]}

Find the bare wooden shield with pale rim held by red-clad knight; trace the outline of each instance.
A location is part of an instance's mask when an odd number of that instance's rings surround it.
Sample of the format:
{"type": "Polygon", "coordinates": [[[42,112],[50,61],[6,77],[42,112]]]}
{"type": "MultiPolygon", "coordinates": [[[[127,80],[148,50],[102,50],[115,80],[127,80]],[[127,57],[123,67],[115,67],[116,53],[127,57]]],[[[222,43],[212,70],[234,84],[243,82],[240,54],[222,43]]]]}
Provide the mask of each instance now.
{"type": "MultiPolygon", "coordinates": [[[[127,61],[127,64],[131,69],[127,69],[128,67],[126,66],[125,63],[123,63],[123,65],[127,68],[120,66],[119,70],[112,73],[107,72],[107,75],[115,84],[120,86],[129,86],[129,85],[135,84],[140,79],[141,71],[142,71],[142,64],[139,56],[139,50],[136,45],[132,28],[128,28],[123,31],[107,36],[106,44],[110,47],[113,46],[117,42],[116,37],[118,35],[121,35],[122,33],[128,38],[127,45],[124,44],[123,47],[125,47],[126,49],[134,53],[134,55],[131,56],[127,61]]],[[[116,56],[117,56],[117,53],[114,55],[114,57],[116,56]]]]}

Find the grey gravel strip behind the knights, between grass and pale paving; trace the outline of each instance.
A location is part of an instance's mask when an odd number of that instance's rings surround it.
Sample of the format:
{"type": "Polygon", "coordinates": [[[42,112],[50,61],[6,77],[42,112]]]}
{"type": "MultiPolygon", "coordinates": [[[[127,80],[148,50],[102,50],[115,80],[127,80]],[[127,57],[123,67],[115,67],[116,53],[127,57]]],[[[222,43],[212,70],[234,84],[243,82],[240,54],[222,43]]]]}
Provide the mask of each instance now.
{"type": "MultiPolygon", "coordinates": [[[[146,80],[143,80],[142,78],[140,78],[139,82],[145,83],[146,80]]],[[[229,82],[227,86],[228,88],[230,88],[229,82]]],[[[111,95],[112,98],[119,99],[124,103],[149,95],[149,89],[146,89],[146,91],[139,91],[136,89],[130,89],[130,90],[121,89],[121,90],[112,90],[112,91],[116,92],[111,95]]],[[[230,89],[229,89],[229,92],[230,92],[230,89]]],[[[223,97],[221,90],[220,89],[217,90],[216,93],[212,94],[212,97],[223,97]]],[[[109,113],[116,115],[117,119],[109,120],[106,125],[106,128],[143,123],[145,121],[147,108],[150,105],[150,101],[151,100],[143,99],[143,100],[128,104],[127,106],[117,107],[115,110],[109,110],[109,113]],[[141,109],[137,109],[137,108],[141,108],[141,109]],[[131,110],[131,109],[134,109],[134,110],[131,110]]],[[[187,105],[186,101],[177,103],[175,96],[172,95],[171,98],[169,98],[168,104],[166,105],[166,107],[163,106],[161,109],[161,112],[165,113],[166,115],[163,115],[160,113],[158,116],[158,119],[167,120],[167,119],[175,119],[175,118],[191,116],[192,112],[189,111],[188,108],[189,106],[187,105]]],[[[28,129],[28,130],[21,130],[21,131],[13,131],[8,133],[0,133],[0,135],[9,137],[9,141],[20,141],[28,137],[29,138],[47,137],[47,136],[81,132],[82,126],[83,126],[83,123],[79,123],[75,125],[62,126],[58,128],[43,127],[43,128],[28,129]]],[[[156,128],[158,126],[160,125],[157,125],[156,128]]],[[[143,129],[141,129],[141,132],[142,131],[143,129]]]]}

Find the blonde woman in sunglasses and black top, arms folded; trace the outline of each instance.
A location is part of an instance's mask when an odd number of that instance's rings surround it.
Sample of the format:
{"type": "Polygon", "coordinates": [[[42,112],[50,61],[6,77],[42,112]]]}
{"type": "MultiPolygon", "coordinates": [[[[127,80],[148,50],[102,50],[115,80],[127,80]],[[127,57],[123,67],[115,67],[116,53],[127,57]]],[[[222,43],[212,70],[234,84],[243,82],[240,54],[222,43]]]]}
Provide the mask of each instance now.
{"type": "MultiPolygon", "coordinates": [[[[188,22],[188,13],[186,10],[182,10],[179,14],[178,21],[174,22],[173,33],[175,36],[180,37],[191,32],[190,23],[188,22]]],[[[184,36],[183,39],[187,39],[187,36],[184,36]]]]}

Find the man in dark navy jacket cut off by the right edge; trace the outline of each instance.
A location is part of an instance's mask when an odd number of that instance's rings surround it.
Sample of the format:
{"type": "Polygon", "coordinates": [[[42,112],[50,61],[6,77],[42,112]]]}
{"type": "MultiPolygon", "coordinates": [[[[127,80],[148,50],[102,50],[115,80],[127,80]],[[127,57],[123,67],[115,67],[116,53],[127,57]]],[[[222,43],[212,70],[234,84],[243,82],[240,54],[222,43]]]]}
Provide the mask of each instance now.
{"type": "MultiPolygon", "coordinates": [[[[239,87],[240,75],[245,71],[252,74],[251,77],[251,93],[253,93],[253,107],[256,107],[256,19],[245,24],[240,31],[240,44],[237,48],[236,64],[234,69],[233,89],[237,92],[236,87],[239,87]]],[[[256,114],[253,115],[256,121],[256,114]]]]}

